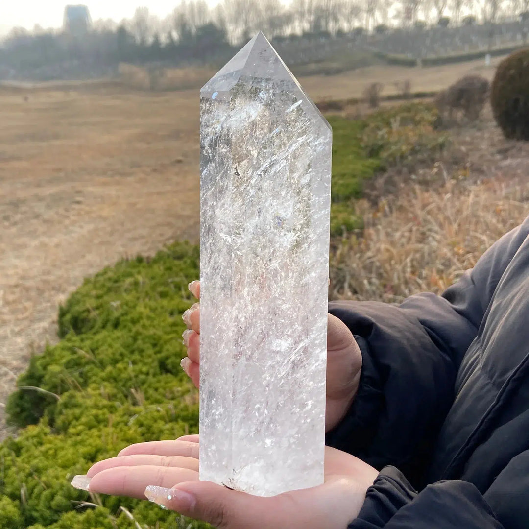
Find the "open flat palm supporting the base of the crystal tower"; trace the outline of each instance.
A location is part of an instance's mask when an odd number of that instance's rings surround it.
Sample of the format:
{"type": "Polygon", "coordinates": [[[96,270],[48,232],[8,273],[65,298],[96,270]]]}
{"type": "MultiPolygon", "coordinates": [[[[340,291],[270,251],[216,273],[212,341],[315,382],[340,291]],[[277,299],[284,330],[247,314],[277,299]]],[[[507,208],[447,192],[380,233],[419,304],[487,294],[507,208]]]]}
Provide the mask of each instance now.
{"type": "Polygon", "coordinates": [[[323,485],[252,496],[198,479],[198,435],[127,446],[87,474],[90,492],[147,497],[220,529],[345,529],[377,475],[360,459],[326,446],[323,485]]]}

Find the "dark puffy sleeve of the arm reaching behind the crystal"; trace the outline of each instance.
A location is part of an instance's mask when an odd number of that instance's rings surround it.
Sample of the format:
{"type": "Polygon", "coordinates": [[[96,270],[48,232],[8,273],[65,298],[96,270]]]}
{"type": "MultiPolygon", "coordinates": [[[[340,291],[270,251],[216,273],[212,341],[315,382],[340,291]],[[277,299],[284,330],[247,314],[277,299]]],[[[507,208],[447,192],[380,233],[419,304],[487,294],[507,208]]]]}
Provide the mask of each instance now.
{"type": "Polygon", "coordinates": [[[476,337],[496,286],[529,234],[529,217],[499,239],[442,296],[401,305],[339,301],[329,312],[355,335],[360,387],[327,444],[377,469],[393,465],[417,485],[454,398],[463,355],[476,337]]]}

